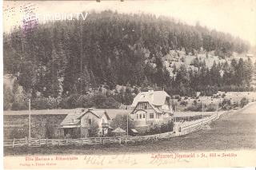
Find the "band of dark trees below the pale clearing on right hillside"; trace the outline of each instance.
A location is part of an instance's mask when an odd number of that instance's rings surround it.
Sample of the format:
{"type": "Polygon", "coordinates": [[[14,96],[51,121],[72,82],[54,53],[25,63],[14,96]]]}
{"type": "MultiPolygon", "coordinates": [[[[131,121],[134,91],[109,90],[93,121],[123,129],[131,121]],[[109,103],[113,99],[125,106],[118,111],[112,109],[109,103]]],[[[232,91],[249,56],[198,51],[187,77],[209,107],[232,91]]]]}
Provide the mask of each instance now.
{"type": "Polygon", "coordinates": [[[174,69],[174,78],[170,78],[170,86],[166,91],[171,94],[182,96],[195,96],[196,92],[201,92],[202,96],[212,96],[219,91],[253,91],[250,81],[254,73],[255,66],[251,59],[242,58],[239,61],[232,59],[224,63],[216,63],[209,69],[206,62],[198,57],[191,62],[197,69],[188,69],[186,65],[181,65],[179,69],[174,69]]]}

